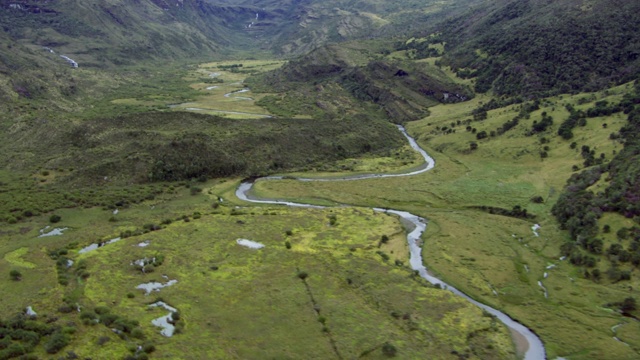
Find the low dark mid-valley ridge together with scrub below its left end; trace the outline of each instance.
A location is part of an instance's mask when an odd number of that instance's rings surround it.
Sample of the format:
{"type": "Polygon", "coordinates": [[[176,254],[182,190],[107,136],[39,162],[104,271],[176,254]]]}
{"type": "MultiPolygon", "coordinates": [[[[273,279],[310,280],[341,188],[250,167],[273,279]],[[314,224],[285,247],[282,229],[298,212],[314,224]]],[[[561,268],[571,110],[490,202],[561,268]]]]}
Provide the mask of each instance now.
{"type": "Polygon", "coordinates": [[[157,112],[38,128],[39,138],[8,147],[33,156],[20,170],[43,166],[47,175],[4,174],[0,209],[6,222],[57,208],[151,200],[167,191],[156,182],[304,170],[363,153],[383,155],[402,143],[391,124],[362,116],[238,122],[157,112]],[[139,185],[126,185],[132,182],[139,185]]]}

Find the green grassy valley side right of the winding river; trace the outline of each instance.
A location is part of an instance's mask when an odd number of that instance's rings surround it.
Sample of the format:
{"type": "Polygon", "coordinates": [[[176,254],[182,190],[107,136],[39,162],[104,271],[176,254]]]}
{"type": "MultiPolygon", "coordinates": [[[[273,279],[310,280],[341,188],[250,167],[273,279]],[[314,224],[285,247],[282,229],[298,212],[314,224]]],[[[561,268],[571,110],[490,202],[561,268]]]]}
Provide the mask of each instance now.
{"type": "MultiPolygon", "coordinates": [[[[588,119],[587,125],[574,129],[574,138],[566,141],[556,134],[559,124],[569,114],[564,106],[572,104],[587,109],[599,100],[612,103],[619,99],[624,86],[595,94],[546,99],[540,110],[533,112],[529,119],[522,119],[515,128],[482,140],[466,131],[466,124],[455,124],[457,120],[472,118],[471,110],[490,100],[489,97],[436,106],[430,109],[431,116],[407,125],[409,132],[436,160],[435,169],[428,173],[357,182],[258,182],[255,193],[293,201],[319,198],[404,209],[424,216],[429,220],[423,236],[427,267],[471,296],[505,310],[532,328],[542,337],[550,358],[634,358],[637,354],[633,349],[640,347],[640,343],[636,336],[629,334],[640,327],[606,309],[605,304],[609,299],[620,301],[637,296],[637,290],[633,290],[638,286],[637,271],[633,270],[631,282],[626,283],[597,284],[584,279],[579,268],[558,259],[559,246],[567,234],[560,231],[550,214],[559,192],[573,173],[572,167],[583,168],[582,145],[595,149],[596,156],[604,154],[606,159],[622,149],[620,143],[609,139],[609,134],[624,125],[623,114],[588,119]],[[587,101],[579,101],[583,98],[587,101]],[[553,126],[544,133],[527,136],[533,121],[539,121],[542,112],[553,117],[553,126]],[[451,127],[452,122],[455,133],[444,134],[437,129],[451,127]],[[570,143],[574,141],[577,146],[571,149],[570,143]],[[470,150],[472,142],[478,144],[473,151],[470,150]],[[543,151],[548,157],[541,157],[543,151]],[[530,199],[534,196],[542,196],[544,203],[532,203],[530,199]],[[511,209],[516,205],[526,208],[536,218],[521,220],[471,208],[511,209]],[[539,237],[531,230],[535,223],[542,226],[539,237]],[[547,269],[553,264],[555,268],[547,269]],[[548,299],[538,281],[547,289],[548,299]],[[627,323],[621,327],[618,337],[630,343],[630,347],[613,339],[611,327],[619,323],[627,323]]],[[[518,105],[492,110],[487,120],[471,122],[470,126],[477,132],[489,133],[517,114],[518,105]]],[[[605,180],[601,180],[594,188],[604,189],[605,185],[605,180]]],[[[628,222],[611,215],[600,223],[619,227],[625,221],[628,222]]],[[[617,241],[612,235],[606,239],[617,241]]],[[[601,271],[607,269],[606,264],[598,267],[601,271]]]]}

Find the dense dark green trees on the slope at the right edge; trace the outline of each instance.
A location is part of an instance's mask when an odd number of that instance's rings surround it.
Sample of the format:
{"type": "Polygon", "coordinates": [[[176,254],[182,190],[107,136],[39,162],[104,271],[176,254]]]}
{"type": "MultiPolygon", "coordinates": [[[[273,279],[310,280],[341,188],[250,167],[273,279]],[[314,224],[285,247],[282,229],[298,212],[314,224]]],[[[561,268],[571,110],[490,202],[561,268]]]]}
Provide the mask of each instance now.
{"type": "MultiPolygon", "coordinates": [[[[583,145],[581,155],[587,169],[572,175],[553,207],[553,214],[562,228],[571,234],[571,240],[561,247],[563,255],[569,257],[573,264],[584,266],[585,276],[594,281],[600,281],[603,275],[598,269],[591,273],[589,269],[595,267],[600,257],[604,257],[611,263],[606,275],[612,282],[618,282],[631,278],[632,271],[624,264],[640,266],[640,228],[634,225],[611,229],[609,224],[604,225],[602,232],[617,230],[619,241],[605,248],[605,242],[599,238],[601,230],[598,219],[607,212],[617,213],[628,219],[640,219],[640,82],[636,82],[635,91],[626,94],[618,105],[606,105],[607,102],[598,102],[586,113],[581,112],[582,116],[576,115],[579,112],[570,108],[570,119],[586,121],[587,116],[608,116],[624,109],[627,124],[610,135],[612,140],[622,142],[624,147],[610,162],[604,163],[604,156],[596,159],[595,151],[583,145]],[[602,176],[607,177],[608,183],[604,191],[594,194],[588,190],[602,176]],[[625,246],[622,241],[629,241],[629,244],[625,246]],[[584,254],[580,248],[589,254],[584,254]]],[[[565,124],[566,122],[563,126],[565,124]]],[[[563,126],[559,129],[561,135],[564,134],[561,131],[563,126]]]]}

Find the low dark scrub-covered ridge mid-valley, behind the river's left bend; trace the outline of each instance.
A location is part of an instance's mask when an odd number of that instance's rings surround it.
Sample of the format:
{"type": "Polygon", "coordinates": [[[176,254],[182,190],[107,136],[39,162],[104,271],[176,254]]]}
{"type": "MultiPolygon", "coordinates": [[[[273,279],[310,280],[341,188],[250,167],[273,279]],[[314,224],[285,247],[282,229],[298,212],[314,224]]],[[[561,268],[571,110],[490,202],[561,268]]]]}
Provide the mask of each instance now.
{"type": "Polygon", "coordinates": [[[58,172],[56,181],[64,182],[256,176],[401,144],[391,124],[364,116],[239,122],[187,112],[147,112],[58,126],[41,125],[42,137],[33,139],[37,147],[15,144],[14,151],[46,158],[52,172],[79,167],[72,174],[58,172]]]}

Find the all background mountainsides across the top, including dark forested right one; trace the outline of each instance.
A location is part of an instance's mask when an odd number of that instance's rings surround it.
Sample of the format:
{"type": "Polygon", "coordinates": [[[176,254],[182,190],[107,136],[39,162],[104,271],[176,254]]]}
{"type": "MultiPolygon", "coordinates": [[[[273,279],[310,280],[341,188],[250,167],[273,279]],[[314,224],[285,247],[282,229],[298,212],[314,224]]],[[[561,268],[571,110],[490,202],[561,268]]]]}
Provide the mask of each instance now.
{"type": "MultiPolygon", "coordinates": [[[[0,9],[0,77],[14,79],[18,69],[66,64],[60,55],[109,68],[433,35],[445,44],[439,63],[475,77],[479,92],[591,91],[640,73],[637,1],[0,0],[0,9]],[[37,59],[45,48],[55,56],[37,59]]],[[[0,97],[15,96],[6,84],[0,97]]]]}

